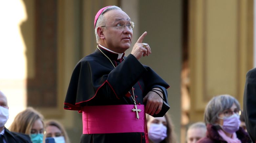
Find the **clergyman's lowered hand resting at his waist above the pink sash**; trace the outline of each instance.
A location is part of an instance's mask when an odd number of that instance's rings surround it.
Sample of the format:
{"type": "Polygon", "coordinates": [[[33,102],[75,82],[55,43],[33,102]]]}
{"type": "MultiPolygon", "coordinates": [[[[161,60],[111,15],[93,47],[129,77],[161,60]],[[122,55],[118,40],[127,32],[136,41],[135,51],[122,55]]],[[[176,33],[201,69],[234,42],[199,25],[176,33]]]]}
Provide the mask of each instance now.
{"type": "MultiPolygon", "coordinates": [[[[160,89],[160,88],[155,88],[155,89],[160,89]]],[[[163,97],[163,94],[160,91],[156,91],[156,92],[158,92],[163,97]]],[[[154,114],[158,114],[162,109],[163,100],[154,91],[149,91],[148,94],[143,98],[143,102],[144,103],[146,102],[145,113],[151,116],[154,114]]]]}

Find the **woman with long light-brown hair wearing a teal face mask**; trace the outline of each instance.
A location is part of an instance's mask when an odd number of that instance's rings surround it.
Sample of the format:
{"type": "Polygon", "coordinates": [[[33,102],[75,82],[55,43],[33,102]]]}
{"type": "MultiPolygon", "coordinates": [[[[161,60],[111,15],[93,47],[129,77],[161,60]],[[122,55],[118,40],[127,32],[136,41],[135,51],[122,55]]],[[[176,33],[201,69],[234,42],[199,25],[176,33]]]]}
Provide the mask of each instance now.
{"type": "Polygon", "coordinates": [[[32,107],[20,112],[13,120],[10,131],[30,136],[33,143],[43,142],[44,122],[43,115],[32,107]]]}

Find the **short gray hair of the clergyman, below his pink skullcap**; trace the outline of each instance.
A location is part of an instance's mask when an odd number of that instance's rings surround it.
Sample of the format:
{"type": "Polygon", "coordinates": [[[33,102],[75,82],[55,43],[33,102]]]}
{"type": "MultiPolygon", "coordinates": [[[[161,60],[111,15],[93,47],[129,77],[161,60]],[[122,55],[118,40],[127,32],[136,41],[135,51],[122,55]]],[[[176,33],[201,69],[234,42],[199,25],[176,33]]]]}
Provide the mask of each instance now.
{"type": "Polygon", "coordinates": [[[109,10],[113,10],[113,9],[122,10],[121,8],[119,8],[119,7],[117,7],[117,6],[111,6],[111,7],[108,7],[108,8],[106,8],[106,9],[104,9],[104,10],[101,12],[101,14],[99,15],[98,20],[96,21],[96,24],[95,24],[96,42],[99,41],[99,36],[98,36],[98,34],[97,34],[97,28],[98,28],[99,26],[105,25],[106,22],[107,22],[106,19],[104,18],[104,15],[103,15],[103,14],[104,14],[105,12],[107,12],[107,11],[109,11],[109,10]]]}

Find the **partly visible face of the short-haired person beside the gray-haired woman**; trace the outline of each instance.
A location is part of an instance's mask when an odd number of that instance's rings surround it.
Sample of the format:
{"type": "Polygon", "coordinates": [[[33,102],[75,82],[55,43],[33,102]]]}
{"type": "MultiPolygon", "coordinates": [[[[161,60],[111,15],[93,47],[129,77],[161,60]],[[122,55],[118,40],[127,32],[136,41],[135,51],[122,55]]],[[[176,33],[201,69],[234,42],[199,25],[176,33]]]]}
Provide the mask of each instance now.
{"type": "Polygon", "coordinates": [[[187,131],[187,143],[196,143],[200,138],[205,137],[206,130],[201,128],[192,128],[187,131]]]}

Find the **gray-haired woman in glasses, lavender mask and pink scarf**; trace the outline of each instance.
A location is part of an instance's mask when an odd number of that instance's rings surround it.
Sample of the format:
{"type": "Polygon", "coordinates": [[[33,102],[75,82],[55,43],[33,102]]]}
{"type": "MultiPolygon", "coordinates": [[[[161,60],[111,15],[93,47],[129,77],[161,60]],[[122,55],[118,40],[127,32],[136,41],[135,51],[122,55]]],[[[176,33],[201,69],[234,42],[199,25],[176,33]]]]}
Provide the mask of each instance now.
{"type": "Polygon", "coordinates": [[[204,110],[206,137],[197,143],[247,143],[248,134],[239,127],[241,110],[238,101],[230,95],[213,97],[204,110]]]}

